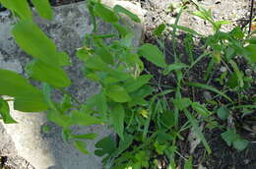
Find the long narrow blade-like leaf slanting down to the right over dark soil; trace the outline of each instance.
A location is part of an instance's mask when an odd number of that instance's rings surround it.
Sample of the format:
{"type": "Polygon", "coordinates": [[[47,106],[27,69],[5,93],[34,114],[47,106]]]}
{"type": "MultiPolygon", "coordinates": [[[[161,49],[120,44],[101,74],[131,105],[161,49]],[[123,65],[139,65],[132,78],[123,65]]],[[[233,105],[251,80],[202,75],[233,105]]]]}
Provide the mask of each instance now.
{"type": "Polygon", "coordinates": [[[188,121],[190,122],[190,124],[194,128],[196,135],[203,142],[203,144],[204,144],[206,150],[208,151],[208,153],[211,153],[212,150],[211,150],[208,142],[206,141],[206,139],[204,137],[204,134],[201,132],[197,120],[191,115],[191,113],[188,110],[185,109],[184,113],[185,113],[186,117],[188,118],[188,121]]]}

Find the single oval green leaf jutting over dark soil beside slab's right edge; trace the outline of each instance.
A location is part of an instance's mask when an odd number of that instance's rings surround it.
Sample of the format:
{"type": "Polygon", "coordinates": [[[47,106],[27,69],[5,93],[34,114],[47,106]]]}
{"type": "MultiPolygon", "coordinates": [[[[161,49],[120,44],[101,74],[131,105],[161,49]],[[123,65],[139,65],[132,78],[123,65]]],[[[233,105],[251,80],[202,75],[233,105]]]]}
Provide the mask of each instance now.
{"type": "Polygon", "coordinates": [[[165,63],[165,57],[160,51],[158,46],[146,43],[139,48],[139,54],[145,57],[148,61],[153,64],[166,68],[167,64],[165,63]]]}

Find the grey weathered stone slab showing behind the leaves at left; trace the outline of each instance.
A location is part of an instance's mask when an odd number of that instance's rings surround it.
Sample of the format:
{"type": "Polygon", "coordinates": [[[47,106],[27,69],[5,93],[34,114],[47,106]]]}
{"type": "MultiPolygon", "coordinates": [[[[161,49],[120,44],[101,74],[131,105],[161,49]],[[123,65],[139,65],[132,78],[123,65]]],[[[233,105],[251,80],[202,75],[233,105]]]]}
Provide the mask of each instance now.
{"type": "MultiPolygon", "coordinates": [[[[115,3],[116,4],[116,3],[115,3]]],[[[126,6],[129,2],[121,2],[126,6]]],[[[129,8],[133,8],[129,5],[129,8]]],[[[140,12],[137,6],[136,13],[140,12]]],[[[85,33],[90,33],[93,26],[86,10],[85,2],[54,8],[53,21],[47,22],[35,17],[36,23],[52,38],[58,49],[64,50],[72,57],[75,66],[68,68],[67,72],[73,86],[70,91],[80,100],[96,93],[98,86],[83,79],[80,63],[75,57],[76,48],[82,46],[85,33]]],[[[140,15],[141,13],[139,13],[140,15]]],[[[30,62],[30,56],[24,53],[15,43],[11,35],[14,20],[8,11],[0,14],[0,69],[9,69],[25,74],[25,66],[30,62]]],[[[102,32],[112,31],[107,24],[99,23],[102,32]]],[[[135,45],[138,45],[142,36],[142,26],[134,25],[136,31],[135,45]]],[[[12,105],[11,105],[12,106],[12,105]]],[[[93,153],[84,155],[72,144],[62,141],[61,129],[49,122],[44,113],[23,113],[11,110],[12,116],[18,124],[0,123],[0,156],[7,157],[6,165],[15,169],[99,169],[100,158],[93,153]],[[50,126],[47,134],[42,132],[43,126],[50,126]],[[25,160],[26,159],[26,160],[25,160]]],[[[98,139],[111,134],[105,126],[92,126],[76,128],[78,134],[96,133],[98,139]]],[[[88,142],[88,149],[94,151],[94,143],[88,142]]]]}

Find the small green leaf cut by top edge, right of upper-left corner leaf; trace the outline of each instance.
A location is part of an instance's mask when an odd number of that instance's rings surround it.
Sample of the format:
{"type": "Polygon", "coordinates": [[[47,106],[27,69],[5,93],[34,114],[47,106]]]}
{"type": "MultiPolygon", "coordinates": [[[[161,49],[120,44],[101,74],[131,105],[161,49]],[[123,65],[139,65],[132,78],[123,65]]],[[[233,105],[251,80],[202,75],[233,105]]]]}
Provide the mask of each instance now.
{"type": "Polygon", "coordinates": [[[32,4],[40,17],[51,20],[53,12],[48,0],[32,0],[32,4]]]}

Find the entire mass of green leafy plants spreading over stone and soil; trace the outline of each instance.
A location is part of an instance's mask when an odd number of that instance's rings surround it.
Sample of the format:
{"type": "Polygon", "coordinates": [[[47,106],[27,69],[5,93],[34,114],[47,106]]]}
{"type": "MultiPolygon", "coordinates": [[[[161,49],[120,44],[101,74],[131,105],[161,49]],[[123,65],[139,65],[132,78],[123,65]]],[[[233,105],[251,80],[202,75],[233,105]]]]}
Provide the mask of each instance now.
{"type": "MultiPolygon", "coordinates": [[[[241,28],[229,32],[221,30],[226,21],[215,21],[211,11],[198,5],[194,15],[212,24],[214,34],[205,36],[193,29],[178,26],[182,13],[180,9],[174,25],[171,25],[172,53],[174,63],[167,64],[164,56],[162,32],[165,25],[154,31],[159,44],[133,46],[135,32],[125,23],[123,15],[131,21],[140,23],[140,19],[117,5],[110,9],[96,0],[88,0],[88,9],[94,23],[94,31],[85,34],[85,43],[76,55],[84,63],[84,75],[100,85],[100,90],[86,100],[77,100],[68,93],[72,82],[64,67],[72,66],[69,56],[58,51],[54,42],[32,21],[32,11],[27,0],[0,0],[0,2],[19,19],[12,29],[19,46],[33,57],[27,66],[30,79],[0,69],[0,114],[4,123],[16,123],[10,116],[8,101],[14,101],[14,109],[23,112],[46,111],[49,121],[62,127],[64,141],[72,142],[83,153],[88,154],[87,140],[94,140],[96,134],[75,135],[73,126],[108,125],[116,133],[116,138],[108,136],[96,143],[96,155],[104,156],[104,168],[175,168],[176,156],[185,160],[184,168],[192,168],[192,157],[188,159],[179,153],[178,141],[185,141],[183,134],[189,129],[204,144],[210,154],[211,147],[203,134],[202,122],[207,129],[224,130],[222,138],[228,145],[242,150],[248,144],[231,125],[222,125],[220,120],[233,119],[234,113],[248,116],[255,110],[255,95],[248,95],[255,88],[255,79],[245,75],[237,65],[237,57],[242,56],[255,70],[256,39],[254,32],[246,34],[241,28]],[[97,20],[109,23],[116,33],[97,33],[97,20]],[[177,30],[187,33],[184,40],[189,56],[188,63],[181,62],[176,51],[177,30]],[[202,38],[203,54],[194,56],[193,39],[202,38]],[[110,39],[107,40],[106,39],[110,39]],[[161,76],[174,74],[175,86],[162,86],[144,68],[142,58],[159,67],[161,76]],[[205,84],[190,82],[189,73],[203,59],[209,58],[205,84]],[[224,65],[226,71],[213,78],[218,65],[224,65]],[[41,85],[35,87],[30,80],[41,85]],[[211,82],[218,83],[216,88],[211,82]],[[157,86],[157,87],[155,87],[157,86]],[[214,97],[206,102],[184,96],[184,88],[197,87],[209,90],[214,97]],[[53,100],[52,89],[62,93],[62,100],[53,100]],[[180,118],[185,118],[180,121],[180,118]],[[226,130],[225,130],[226,129],[226,130]]],[[[50,20],[52,11],[47,1],[32,0],[39,16],[50,20]]],[[[203,126],[204,127],[204,126],[203,126]]],[[[47,127],[44,131],[47,132],[47,127]]]]}

